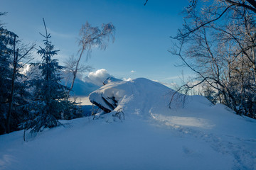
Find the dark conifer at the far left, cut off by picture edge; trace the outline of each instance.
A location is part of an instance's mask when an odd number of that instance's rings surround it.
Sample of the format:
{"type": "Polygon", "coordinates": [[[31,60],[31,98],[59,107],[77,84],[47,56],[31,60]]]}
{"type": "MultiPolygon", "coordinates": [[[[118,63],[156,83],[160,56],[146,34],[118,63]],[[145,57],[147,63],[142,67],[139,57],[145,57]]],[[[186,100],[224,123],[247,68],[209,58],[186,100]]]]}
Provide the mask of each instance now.
{"type": "MultiPolygon", "coordinates": [[[[0,12],[0,16],[4,14],[0,12]]],[[[23,55],[18,53],[17,38],[18,35],[6,30],[0,23],[0,135],[18,130],[23,112],[26,112],[22,107],[26,103],[26,84],[18,81],[18,78],[23,77],[18,73],[22,67],[18,60],[26,57],[29,51],[23,55]]]]}

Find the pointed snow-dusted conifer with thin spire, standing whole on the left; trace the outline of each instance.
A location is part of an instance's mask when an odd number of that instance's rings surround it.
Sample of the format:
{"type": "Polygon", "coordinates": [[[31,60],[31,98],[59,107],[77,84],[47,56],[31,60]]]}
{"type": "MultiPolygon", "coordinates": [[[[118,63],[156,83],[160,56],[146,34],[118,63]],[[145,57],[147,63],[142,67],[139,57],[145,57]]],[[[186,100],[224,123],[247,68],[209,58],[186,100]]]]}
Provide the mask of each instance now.
{"type": "Polygon", "coordinates": [[[42,57],[42,62],[37,63],[42,77],[36,77],[31,81],[33,100],[29,104],[30,120],[23,124],[24,130],[31,129],[31,132],[61,125],[58,119],[63,118],[63,114],[69,112],[71,108],[75,108],[75,103],[67,99],[68,88],[60,84],[60,71],[63,67],[58,64],[58,60],[53,59],[59,50],[54,50],[44,20],[43,23],[46,35],[41,35],[45,38],[43,40],[45,47],[40,47],[37,52],[42,57]]]}

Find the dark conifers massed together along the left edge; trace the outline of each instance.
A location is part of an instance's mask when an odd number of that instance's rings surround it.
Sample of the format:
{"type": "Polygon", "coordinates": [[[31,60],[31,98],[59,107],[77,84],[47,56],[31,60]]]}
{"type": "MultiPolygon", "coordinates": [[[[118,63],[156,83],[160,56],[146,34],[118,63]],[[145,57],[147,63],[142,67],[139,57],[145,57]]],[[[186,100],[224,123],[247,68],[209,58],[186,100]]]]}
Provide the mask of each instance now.
{"type": "Polygon", "coordinates": [[[70,89],[60,84],[64,67],[53,58],[59,50],[54,50],[47,29],[42,36],[44,47],[37,52],[42,61],[31,64],[40,74],[31,78],[20,71],[33,59],[35,45],[22,45],[0,22],[0,135],[21,129],[39,132],[61,125],[60,119],[82,117],[78,103],[68,100],[70,89]]]}

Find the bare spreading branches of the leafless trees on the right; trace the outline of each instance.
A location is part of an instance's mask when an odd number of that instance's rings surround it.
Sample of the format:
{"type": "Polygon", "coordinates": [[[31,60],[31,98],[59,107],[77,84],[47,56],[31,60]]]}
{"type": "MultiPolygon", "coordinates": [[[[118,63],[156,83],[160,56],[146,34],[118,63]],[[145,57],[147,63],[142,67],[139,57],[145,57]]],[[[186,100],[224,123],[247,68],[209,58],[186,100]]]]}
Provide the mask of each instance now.
{"type": "Polygon", "coordinates": [[[178,91],[204,84],[214,102],[256,118],[256,1],[207,1],[200,10],[197,5],[192,0],[186,8],[171,53],[196,73],[198,84],[178,91]]]}

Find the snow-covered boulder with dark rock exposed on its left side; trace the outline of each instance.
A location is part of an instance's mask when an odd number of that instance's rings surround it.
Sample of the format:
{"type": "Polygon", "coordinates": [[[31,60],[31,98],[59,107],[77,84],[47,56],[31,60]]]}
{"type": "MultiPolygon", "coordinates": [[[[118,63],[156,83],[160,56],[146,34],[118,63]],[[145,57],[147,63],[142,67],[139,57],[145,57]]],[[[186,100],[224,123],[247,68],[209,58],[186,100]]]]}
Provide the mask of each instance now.
{"type": "MultiPolygon", "coordinates": [[[[104,113],[122,111],[136,115],[150,115],[154,111],[170,110],[169,103],[174,90],[155,81],[139,78],[132,81],[113,81],[90,94],[90,101],[104,113]]],[[[183,96],[181,94],[177,96],[183,96]]],[[[172,106],[181,106],[181,100],[172,106]]]]}

